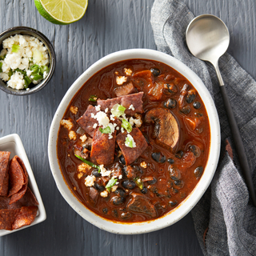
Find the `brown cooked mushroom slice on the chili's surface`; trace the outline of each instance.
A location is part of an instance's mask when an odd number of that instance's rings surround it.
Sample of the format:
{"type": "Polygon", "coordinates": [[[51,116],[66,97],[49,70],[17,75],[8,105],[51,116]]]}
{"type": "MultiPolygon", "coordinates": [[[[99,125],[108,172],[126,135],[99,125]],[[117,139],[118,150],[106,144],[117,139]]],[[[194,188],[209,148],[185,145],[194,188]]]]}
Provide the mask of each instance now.
{"type": "Polygon", "coordinates": [[[160,107],[149,110],[145,122],[154,122],[154,137],[156,141],[168,149],[174,149],[179,139],[179,126],[170,110],[160,107]]]}

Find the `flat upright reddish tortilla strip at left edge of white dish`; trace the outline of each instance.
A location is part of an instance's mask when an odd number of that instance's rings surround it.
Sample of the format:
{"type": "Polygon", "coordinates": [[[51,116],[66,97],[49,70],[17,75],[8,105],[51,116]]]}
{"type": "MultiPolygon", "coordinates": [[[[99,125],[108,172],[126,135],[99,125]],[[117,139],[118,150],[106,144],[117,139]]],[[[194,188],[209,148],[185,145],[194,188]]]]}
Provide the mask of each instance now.
{"type": "Polygon", "coordinates": [[[6,196],[8,194],[9,186],[9,158],[10,152],[0,151],[0,196],[6,196]]]}

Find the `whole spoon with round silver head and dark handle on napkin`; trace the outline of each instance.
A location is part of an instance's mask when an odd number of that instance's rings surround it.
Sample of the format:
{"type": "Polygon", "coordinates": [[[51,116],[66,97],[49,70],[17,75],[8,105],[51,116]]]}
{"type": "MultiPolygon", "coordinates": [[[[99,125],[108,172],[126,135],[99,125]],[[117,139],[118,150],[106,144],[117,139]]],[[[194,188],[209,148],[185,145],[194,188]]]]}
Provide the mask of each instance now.
{"type": "Polygon", "coordinates": [[[235,150],[238,154],[238,160],[246,185],[250,191],[250,196],[254,206],[256,206],[254,184],[252,182],[245,149],[242,144],[242,138],[238,130],[237,122],[234,119],[234,113],[230,106],[229,98],[226,94],[226,87],[224,86],[222,75],[218,68],[218,59],[225,54],[230,44],[229,30],[220,18],[211,14],[203,14],[194,18],[189,26],[187,26],[186,44],[191,54],[203,61],[210,62],[216,70],[227,118],[230,123],[230,130],[234,139],[235,150]]]}

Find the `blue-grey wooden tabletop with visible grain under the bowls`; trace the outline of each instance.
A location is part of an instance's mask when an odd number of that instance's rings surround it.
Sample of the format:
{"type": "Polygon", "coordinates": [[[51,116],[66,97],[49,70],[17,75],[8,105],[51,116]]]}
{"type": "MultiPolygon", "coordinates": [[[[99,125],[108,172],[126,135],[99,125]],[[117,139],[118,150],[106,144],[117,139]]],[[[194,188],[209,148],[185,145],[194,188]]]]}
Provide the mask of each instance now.
{"type": "MultiPolygon", "coordinates": [[[[0,238],[0,255],[202,255],[191,215],[150,234],[117,235],[99,230],[71,209],[50,172],[50,122],[66,90],[90,65],[117,50],[156,49],[150,27],[154,0],[89,0],[85,16],[69,26],[47,22],[33,1],[0,0],[0,31],[11,26],[38,29],[54,45],[57,66],[48,86],[18,97],[0,91],[0,137],[22,138],[46,207],[45,222],[0,238]]],[[[254,78],[256,3],[254,0],[186,0],[198,14],[215,14],[230,30],[230,54],[254,78]]],[[[227,85],[228,86],[228,85],[227,85]]]]}

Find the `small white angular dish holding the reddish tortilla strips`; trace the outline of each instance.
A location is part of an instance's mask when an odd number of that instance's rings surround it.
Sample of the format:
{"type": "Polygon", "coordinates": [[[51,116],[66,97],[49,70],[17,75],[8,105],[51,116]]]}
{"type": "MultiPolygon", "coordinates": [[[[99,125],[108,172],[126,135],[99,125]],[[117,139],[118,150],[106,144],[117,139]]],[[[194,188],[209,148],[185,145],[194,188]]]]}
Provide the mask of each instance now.
{"type": "MultiPolygon", "coordinates": [[[[19,138],[18,134],[10,134],[5,137],[0,138],[0,151],[10,151],[10,159],[18,155],[22,159],[24,165],[26,166],[27,174],[29,175],[29,187],[34,193],[34,196],[38,200],[38,214],[29,226],[22,226],[18,230],[24,230],[27,227],[34,226],[40,222],[46,220],[46,210],[42,203],[42,198],[38,190],[37,182],[34,179],[34,174],[30,166],[29,159],[26,156],[26,151],[22,145],[22,140],[19,138]]],[[[0,230],[0,237],[6,234],[12,234],[18,230],[0,230]]]]}

